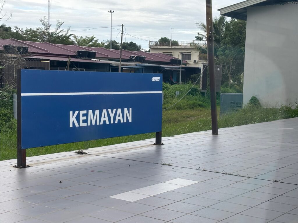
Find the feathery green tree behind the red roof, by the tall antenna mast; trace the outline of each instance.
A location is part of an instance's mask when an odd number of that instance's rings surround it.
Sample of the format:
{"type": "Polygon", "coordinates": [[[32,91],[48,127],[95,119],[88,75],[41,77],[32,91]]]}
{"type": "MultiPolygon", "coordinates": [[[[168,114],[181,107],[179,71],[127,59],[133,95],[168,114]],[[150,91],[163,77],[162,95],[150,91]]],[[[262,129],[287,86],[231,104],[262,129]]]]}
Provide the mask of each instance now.
{"type": "Polygon", "coordinates": [[[39,19],[43,27],[35,28],[18,28],[15,27],[15,31],[20,33],[24,40],[34,42],[49,42],[56,44],[72,45],[74,41],[71,39],[73,34],[69,33],[68,29],[61,29],[63,21],[57,20],[55,28],[51,31],[51,25],[48,25],[46,17],[39,19]]]}

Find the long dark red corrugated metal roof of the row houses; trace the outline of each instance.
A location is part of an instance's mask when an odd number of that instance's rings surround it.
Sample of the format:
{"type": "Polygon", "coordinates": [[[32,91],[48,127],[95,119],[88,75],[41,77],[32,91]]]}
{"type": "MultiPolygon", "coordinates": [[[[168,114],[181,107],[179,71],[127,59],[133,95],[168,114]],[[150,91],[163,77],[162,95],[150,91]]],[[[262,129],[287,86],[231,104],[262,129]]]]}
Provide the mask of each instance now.
{"type": "MultiPolygon", "coordinates": [[[[75,56],[78,50],[95,51],[97,58],[105,59],[119,59],[120,50],[110,50],[102,47],[87,47],[78,45],[63,45],[63,44],[52,44],[52,43],[37,43],[30,41],[20,41],[15,39],[0,39],[0,49],[3,49],[3,45],[26,45],[28,51],[34,54],[40,55],[63,55],[63,56],[75,56]]],[[[37,56],[37,55],[35,55],[37,56]]],[[[145,56],[145,62],[166,62],[169,63],[170,59],[176,59],[175,57],[161,54],[161,53],[148,53],[143,51],[127,51],[122,50],[122,59],[129,59],[130,56],[145,56]]],[[[183,63],[187,63],[183,61],[183,63]]]]}

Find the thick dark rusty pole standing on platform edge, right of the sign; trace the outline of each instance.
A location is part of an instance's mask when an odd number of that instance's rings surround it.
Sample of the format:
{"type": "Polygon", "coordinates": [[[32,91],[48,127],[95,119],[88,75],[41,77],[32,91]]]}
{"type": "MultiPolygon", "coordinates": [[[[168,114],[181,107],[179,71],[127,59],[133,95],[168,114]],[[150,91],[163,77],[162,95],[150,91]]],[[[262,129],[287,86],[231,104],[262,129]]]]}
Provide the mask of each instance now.
{"type": "Polygon", "coordinates": [[[218,135],[217,111],[216,111],[216,89],[215,89],[215,67],[214,67],[214,38],[212,21],[212,0],[206,0],[206,19],[207,19],[207,54],[210,82],[211,98],[211,122],[212,135],[218,135]]]}

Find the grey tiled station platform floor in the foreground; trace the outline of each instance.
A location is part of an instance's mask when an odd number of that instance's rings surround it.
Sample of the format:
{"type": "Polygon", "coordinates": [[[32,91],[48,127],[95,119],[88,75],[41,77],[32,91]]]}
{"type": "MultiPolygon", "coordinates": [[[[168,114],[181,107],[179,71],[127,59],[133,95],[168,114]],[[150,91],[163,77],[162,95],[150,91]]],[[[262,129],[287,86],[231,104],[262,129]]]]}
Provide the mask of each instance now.
{"type": "Polygon", "coordinates": [[[219,132],[0,161],[0,222],[297,223],[298,118],[219,132]]]}

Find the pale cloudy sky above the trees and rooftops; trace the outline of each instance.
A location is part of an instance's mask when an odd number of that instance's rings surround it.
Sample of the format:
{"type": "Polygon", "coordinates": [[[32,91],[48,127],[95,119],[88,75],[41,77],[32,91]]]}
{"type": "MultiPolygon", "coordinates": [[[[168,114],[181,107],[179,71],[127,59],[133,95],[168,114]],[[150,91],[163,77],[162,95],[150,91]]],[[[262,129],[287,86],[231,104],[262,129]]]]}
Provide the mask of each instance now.
{"type": "MultiPolygon", "coordinates": [[[[213,16],[217,9],[243,0],[213,0],[213,16]]],[[[2,3],[3,0],[0,0],[2,3]]],[[[148,48],[148,40],[160,37],[173,40],[193,40],[198,28],[195,22],[206,21],[204,0],[50,0],[50,23],[64,21],[64,28],[82,36],[94,35],[98,40],[110,38],[110,13],[112,15],[112,39],[120,42],[120,25],[125,25],[125,41],[133,41],[148,48]],[[90,27],[90,28],[87,28],[90,27]],[[96,28],[103,27],[103,28],[96,28]],[[95,28],[95,29],[94,29],[95,28]],[[130,35],[132,36],[130,36],[130,35]]],[[[4,22],[8,26],[31,28],[40,26],[39,18],[48,15],[47,0],[6,0],[3,12],[12,12],[12,18],[4,22]]]]}

